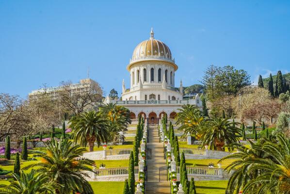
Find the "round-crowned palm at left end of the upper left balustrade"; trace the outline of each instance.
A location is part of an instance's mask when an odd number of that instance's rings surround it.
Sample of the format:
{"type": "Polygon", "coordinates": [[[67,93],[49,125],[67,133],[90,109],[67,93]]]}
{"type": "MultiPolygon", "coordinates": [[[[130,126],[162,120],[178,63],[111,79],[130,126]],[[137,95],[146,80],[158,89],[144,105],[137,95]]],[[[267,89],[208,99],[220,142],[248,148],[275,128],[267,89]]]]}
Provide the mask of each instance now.
{"type": "Polygon", "coordinates": [[[94,142],[97,141],[97,146],[100,146],[102,142],[108,141],[106,119],[100,112],[83,112],[72,117],[69,124],[74,141],[84,147],[89,143],[90,151],[94,151],[94,142]]]}

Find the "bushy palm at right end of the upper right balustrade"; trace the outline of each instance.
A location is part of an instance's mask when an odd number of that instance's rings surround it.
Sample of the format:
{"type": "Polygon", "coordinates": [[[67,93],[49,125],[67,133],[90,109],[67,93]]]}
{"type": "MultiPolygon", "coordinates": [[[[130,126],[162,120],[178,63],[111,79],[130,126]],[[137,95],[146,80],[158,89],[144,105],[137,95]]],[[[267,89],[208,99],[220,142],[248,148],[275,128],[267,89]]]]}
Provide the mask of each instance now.
{"type": "MultiPolygon", "coordinates": [[[[235,123],[238,125],[238,123],[235,123]]],[[[223,146],[240,142],[238,136],[241,129],[233,126],[232,122],[223,118],[213,118],[208,121],[208,125],[201,131],[202,146],[208,145],[210,149],[223,150],[223,146]]],[[[231,148],[229,147],[231,150],[231,148]]]]}

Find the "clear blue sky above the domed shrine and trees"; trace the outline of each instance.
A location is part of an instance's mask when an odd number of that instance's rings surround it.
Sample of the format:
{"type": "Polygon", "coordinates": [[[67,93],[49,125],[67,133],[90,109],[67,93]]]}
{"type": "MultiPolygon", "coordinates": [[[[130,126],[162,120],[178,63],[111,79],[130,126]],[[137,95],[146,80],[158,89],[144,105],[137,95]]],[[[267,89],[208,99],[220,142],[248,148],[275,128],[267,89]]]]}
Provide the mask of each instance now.
{"type": "Polygon", "coordinates": [[[0,92],[27,97],[43,83],[98,81],[106,94],[122,80],[137,44],[166,43],[176,85],[199,83],[207,66],[258,75],[290,72],[290,1],[0,0],[0,92]]]}

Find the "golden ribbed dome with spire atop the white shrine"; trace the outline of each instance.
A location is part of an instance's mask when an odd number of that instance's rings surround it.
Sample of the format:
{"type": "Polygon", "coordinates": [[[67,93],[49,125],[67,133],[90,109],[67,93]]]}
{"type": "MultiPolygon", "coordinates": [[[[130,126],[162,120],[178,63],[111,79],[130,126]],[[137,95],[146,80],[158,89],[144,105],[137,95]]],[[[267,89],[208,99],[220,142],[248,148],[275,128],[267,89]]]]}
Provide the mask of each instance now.
{"type": "Polygon", "coordinates": [[[165,43],[154,38],[153,29],[151,29],[149,40],[142,41],[134,49],[128,67],[135,62],[147,60],[166,61],[173,64],[176,69],[178,68],[174,58],[172,58],[169,47],[165,43]]]}

